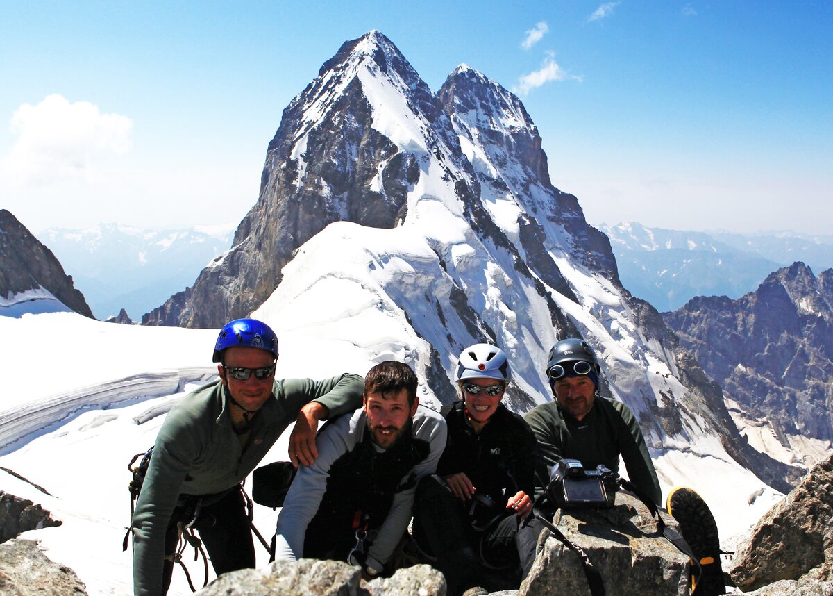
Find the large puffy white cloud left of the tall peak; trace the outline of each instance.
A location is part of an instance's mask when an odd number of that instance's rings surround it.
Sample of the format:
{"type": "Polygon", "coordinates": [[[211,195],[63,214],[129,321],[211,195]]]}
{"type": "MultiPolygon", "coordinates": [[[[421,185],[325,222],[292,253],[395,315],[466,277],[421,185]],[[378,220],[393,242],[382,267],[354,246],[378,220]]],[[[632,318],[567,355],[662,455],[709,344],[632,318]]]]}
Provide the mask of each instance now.
{"type": "Polygon", "coordinates": [[[91,182],[109,158],[131,148],[132,127],[127,116],[61,95],[23,103],[9,121],[17,142],[0,158],[0,178],[17,186],[91,182]]]}

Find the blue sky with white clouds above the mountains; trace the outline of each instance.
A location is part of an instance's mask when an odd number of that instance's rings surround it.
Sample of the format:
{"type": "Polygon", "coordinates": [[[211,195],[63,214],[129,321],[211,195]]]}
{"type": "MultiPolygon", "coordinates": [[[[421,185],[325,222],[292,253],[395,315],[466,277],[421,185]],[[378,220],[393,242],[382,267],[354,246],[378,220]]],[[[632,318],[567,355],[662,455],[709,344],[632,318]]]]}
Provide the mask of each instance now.
{"type": "Polygon", "coordinates": [[[0,0],[0,208],[237,223],[282,109],[377,28],[519,94],[591,223],[831,233],[831,2],[0,0]],[[526,43],[525,43],[526,42],[526,43]]]}

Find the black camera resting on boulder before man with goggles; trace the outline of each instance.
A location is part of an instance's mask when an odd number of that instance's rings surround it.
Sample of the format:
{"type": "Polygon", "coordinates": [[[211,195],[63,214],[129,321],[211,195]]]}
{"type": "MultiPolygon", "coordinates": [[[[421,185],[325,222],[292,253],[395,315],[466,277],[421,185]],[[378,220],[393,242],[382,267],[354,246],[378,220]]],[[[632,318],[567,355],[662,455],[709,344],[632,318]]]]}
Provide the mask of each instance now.
{"type": "Polygon", "coordinates": [[[603,465],[586,470],[577,459],[561,459],[550,471],[546,493],[560,508],[611,508],[616,503],[616,479],[603,465]]]}

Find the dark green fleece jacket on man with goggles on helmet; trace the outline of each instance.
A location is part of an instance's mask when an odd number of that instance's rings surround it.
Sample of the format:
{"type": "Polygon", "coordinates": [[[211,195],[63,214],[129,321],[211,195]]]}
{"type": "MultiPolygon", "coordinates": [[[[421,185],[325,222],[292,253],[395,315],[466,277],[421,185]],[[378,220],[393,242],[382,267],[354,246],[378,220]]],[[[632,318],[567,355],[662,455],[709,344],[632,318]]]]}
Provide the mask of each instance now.
{"type": "MultiPolygon", "coordinates": [[[[579,422],[552,401],[531,409],[524,419],[538,439],[547,473],[560,459],[578,459],[585,469],[595,469],[601,463],[618,474],[621,454],[631,482],[654,503],[661,503],[660,481],[645,438],[624,403],[596,397],[593,408],[579,422]]],[[[536,478],[536,495],[544,488],[541,478],[536,478]]]]}

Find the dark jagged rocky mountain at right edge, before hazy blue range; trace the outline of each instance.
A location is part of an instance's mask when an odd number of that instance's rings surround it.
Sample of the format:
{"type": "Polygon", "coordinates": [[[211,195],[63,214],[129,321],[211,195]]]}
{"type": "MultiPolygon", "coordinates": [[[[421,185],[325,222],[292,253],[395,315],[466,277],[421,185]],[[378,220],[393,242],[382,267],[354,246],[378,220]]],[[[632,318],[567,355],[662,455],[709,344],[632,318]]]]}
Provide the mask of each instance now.
{"type": "Polygon", "coordinates": [[[711,378],[776,436],[833,440],[833,270],[803,263],[737,300],[694,298],[666,321],[711,378]]]}

